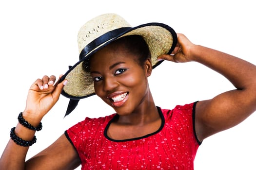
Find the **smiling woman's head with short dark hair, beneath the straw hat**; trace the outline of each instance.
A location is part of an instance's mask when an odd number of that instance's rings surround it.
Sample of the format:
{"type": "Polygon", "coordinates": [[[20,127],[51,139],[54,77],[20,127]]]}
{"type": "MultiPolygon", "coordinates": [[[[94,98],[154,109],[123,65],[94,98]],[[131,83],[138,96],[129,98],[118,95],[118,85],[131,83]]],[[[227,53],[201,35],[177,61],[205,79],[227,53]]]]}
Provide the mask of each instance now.
{"type": "Polygon", "coordinates": [[[91,56],[90,68],[95,93],[118,114],[132,113],[138,105],[132,107],[131,102],[153,102],[147,82],[152,71],[150,52],[142,37],[130,35],[112,42],[91,56]]]}

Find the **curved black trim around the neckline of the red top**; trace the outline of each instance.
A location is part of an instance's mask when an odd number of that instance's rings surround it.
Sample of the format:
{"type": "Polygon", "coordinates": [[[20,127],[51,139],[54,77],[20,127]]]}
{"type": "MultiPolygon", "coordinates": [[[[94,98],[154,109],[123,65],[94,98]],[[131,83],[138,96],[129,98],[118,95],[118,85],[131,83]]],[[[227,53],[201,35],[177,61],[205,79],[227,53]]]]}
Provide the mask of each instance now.
{"type": "Polygon", "coordinates": [[[156,131],[156,132],[153,132],[151,134],[148,134],[148,135],[145,135],[145,136],[140,136],[140,137],[135,137],[135,138],[129,138],[129,139],[122,139],[122,140],[117,140],[117,139],[112,139],[110,138],[108,135],[107,135],[107,131],[108,131],[108,128],[110,126],[110,124],[118,117],[118,114],[116,114],[107,124],[107,126],[105,127],[105,130],[104,130],[104,136],[108,139],[108,140],[111,140],[113,142],[125,142],[125,141],[133,141],[133,140],[138,140],[138,139],[142,139],[142,138],[146,138],[146,137],[149,137],[149,136],[153,136],[155,134],[157,134],[158,132],[160,132],[163,127],[164,127],[164,124],[165,124],[165,119],[164,119],[164,116],[163,116],[163,113],[160,109],[160,107],[157,106],[157,109],[158,109],[158,114],[161,118],[161,125],[159,127],[159,129],[156,131]]]}

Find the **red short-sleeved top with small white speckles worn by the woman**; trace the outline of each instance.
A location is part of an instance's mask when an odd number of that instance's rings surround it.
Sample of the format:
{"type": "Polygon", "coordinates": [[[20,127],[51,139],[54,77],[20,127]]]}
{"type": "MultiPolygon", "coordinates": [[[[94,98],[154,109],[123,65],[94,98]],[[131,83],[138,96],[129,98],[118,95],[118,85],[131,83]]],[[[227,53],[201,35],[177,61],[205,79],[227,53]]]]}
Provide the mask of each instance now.
{"type": "Polygon", "coordinates": [[[194,131],[196,103],[161,109],[157,132],[127,140],[113,140],[107,129],[117,114],[79,122],[65,132],[77,149],[81,170],[194,170],[200,142],[194,131]]]}

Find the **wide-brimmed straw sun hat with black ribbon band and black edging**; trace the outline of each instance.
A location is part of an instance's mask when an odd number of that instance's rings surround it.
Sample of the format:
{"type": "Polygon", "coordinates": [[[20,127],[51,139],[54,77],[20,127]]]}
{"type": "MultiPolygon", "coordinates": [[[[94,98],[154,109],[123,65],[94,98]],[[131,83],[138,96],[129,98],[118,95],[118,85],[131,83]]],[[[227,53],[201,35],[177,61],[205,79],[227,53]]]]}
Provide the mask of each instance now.
{"type": "Polygon", "coordinates": [[[141,35],[151,52],[153,68],[161,62],[157,57],[170,54],[177,43],[175,31],[162,23],[147,23],[132,27],[117,14],[103,14],[86,22],[79,30],[79,62],[71,67],[61,78],[67,79],[62,95],[72,100],[79,100],[95,94],[94,83],[89,72],[84,71],[82,63],[93,53],[127,35],[141,35]]]}

